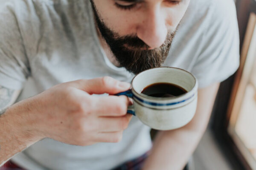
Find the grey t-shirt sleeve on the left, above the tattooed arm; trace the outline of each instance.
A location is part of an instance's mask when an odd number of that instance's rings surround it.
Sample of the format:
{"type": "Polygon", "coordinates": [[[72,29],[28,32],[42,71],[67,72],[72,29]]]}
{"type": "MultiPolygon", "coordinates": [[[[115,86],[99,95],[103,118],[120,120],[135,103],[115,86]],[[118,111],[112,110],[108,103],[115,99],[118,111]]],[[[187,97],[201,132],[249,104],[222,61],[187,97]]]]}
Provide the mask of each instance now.
{"type": "Polygon", "coordinates": [[[1,4],[0,85],[12,89],[21,89],[29,76],[29,61],[17,23],[12,3],[1,4]]]}

